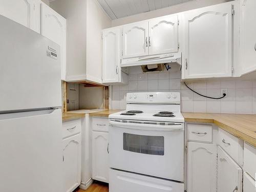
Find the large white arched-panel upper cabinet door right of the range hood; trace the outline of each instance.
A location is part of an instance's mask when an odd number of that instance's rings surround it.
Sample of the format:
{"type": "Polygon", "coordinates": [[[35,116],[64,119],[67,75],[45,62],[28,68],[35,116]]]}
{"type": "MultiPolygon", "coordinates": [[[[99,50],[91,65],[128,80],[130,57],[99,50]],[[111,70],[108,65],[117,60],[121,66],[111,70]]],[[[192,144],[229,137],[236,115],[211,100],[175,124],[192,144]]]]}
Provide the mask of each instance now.
{"type": "Polygon", "coordinates": [[[185,79],[232,76],[232,4],[187,11],[185,79]]]}

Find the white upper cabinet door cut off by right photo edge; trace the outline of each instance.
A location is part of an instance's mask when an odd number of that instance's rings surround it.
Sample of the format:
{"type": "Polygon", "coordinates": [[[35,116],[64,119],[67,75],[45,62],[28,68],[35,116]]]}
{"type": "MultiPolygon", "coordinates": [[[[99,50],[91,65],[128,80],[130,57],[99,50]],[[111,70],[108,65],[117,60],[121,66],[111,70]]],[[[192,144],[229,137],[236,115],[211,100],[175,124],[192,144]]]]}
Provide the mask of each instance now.
{"type": "Polygon", "coordinates": [[[256,70],[256,1],[241,0],[240,50],[242,75],[256,70]]]}

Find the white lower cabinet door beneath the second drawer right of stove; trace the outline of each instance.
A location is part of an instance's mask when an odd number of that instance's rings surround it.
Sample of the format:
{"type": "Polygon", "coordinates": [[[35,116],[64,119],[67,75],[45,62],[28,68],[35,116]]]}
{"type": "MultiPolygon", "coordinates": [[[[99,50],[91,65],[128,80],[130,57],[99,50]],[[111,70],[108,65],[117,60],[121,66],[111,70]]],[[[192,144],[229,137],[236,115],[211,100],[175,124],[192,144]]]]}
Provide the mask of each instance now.
{"type": "MultiPolygon", "coordinates": [[[[218,170],[217,190],[218,192],[236,191],[242,192],[242,169],[218,146],[218,170]]],[[[247,192],[247,191],[245,191],[247,192]]]]}

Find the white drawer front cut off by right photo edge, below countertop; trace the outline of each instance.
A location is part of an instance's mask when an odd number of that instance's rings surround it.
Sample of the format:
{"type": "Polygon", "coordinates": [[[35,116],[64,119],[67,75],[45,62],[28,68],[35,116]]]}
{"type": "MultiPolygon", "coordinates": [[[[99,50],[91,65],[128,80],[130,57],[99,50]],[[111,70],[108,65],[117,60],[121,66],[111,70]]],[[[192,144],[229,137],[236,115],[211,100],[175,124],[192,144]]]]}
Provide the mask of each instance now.
{"type": "Polygon", "coordinates": [[[244,171],[251,177],[256,174],[256,148],[244,142],[244,171]]]}

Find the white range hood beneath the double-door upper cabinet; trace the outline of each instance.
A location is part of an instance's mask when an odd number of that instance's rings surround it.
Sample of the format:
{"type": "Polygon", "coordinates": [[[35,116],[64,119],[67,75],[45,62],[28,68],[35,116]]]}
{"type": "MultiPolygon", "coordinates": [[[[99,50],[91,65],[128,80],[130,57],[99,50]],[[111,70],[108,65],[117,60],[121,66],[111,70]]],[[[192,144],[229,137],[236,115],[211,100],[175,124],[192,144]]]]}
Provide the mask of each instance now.
{"type": "Polygon", "coordinates": [[[175,62],[181,65],[181,53],[168,53],[162,55],[126,58],[121,60],[121,67],[143,66],[171,62],[175,62]]]}

